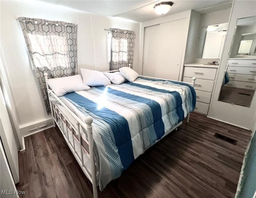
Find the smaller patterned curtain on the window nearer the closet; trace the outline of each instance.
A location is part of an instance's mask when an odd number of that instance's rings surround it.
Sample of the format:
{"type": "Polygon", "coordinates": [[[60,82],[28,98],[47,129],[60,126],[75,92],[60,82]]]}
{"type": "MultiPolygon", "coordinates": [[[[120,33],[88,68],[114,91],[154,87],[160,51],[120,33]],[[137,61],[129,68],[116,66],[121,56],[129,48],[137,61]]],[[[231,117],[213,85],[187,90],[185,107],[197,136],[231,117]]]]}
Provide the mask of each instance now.
{"type": "Polygon", "coordinates": [[[112,31],[110,70],[132,67],[135,33],[130,30],[110,28],[112,31]]]}

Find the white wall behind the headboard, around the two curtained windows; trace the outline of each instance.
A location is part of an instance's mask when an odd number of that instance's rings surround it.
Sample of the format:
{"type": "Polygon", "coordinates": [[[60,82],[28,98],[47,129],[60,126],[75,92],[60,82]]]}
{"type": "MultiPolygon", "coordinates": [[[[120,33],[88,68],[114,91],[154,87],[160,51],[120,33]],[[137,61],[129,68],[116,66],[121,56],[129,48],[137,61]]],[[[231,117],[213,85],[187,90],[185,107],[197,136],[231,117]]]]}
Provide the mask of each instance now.
{"type": "Polygon", "coordinates": [[[135,31],[134,70],[138,71],[140,24],[120,18],[107,18],[65,8],[38,6],[33,2],[0,1],[0,41],[10,75],[22,135],[28,129],[52,121],[46,114],[41,93],[25,51],[24,38],[16,18],[20,16],[78,24],[78,68],[109,70],[106,31],[121,28],[135,31]],[[33,125],[32,125],[33,124],[33,125]]]}

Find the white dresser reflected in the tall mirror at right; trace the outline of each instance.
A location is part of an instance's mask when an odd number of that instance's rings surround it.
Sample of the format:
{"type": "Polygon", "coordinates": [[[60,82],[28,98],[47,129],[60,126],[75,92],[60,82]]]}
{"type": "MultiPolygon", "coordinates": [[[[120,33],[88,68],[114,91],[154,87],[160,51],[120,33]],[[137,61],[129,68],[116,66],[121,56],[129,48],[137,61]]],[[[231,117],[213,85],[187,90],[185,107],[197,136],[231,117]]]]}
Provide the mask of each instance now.
{"type": "Polygon", "coordinates": [[[229,82],[225,86],[256,89],[256,60],[228,59],[229,82]]]}

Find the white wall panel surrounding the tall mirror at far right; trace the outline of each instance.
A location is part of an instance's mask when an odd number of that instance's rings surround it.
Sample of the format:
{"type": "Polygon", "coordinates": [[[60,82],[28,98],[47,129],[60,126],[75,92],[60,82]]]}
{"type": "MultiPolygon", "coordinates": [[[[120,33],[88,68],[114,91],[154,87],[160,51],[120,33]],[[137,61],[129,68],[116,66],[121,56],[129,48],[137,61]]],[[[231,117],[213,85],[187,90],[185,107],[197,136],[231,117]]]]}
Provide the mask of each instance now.
{"type": "Polygon", "coordinates": [[[256,1],[254,0],[235,0],[233,6],[234,7],[230,18],[226,43],[224,46],[222,58],[220,60],[219,73],[213,99],[208,112],[208,117],[222,120],[224,122],[228,122],[230,124],[234,124],[251,130],[253,128],[255,122],[254,120],[256,118],[256,94],[254,94],[254,98],[252,100],[250,108],[218,101],[220,88],[222,86],[222,79],[224,77],[224,70],[226,68],[228,60],[228,53],[230,52],[232,38],[236,27],[236,20],[238,18],[256,15],[256,1]]]}

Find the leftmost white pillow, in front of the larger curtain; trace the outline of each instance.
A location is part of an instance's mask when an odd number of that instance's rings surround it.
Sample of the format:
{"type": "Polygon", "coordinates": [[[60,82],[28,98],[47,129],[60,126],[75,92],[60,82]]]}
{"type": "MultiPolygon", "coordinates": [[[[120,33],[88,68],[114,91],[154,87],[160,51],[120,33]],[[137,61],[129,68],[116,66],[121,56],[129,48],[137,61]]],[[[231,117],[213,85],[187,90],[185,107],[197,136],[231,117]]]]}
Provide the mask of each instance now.
{"type": "Polygon", "coordinates": [[[48,80],[48,85],[56,96],[63,96],[70,92],[89,90],[90,87],[83,84],[81,75],[67,76],[62,78],[52,78],[48,80]]]}

